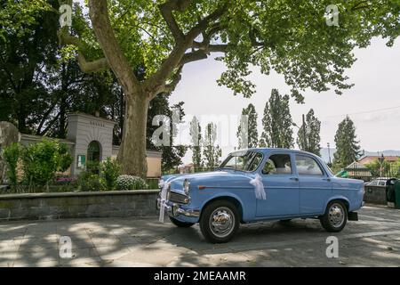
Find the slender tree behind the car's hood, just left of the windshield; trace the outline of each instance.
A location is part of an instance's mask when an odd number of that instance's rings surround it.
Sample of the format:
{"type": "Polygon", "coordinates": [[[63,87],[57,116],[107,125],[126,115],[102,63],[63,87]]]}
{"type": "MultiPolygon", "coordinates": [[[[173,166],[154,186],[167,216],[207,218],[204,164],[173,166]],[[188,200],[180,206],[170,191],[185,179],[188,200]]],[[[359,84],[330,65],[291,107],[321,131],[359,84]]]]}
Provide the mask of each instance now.
{"type": "Polygon", "coordinates": [[[222,151],[220,146],[215,142],[217,140],[217,125],[209,123],[205,127],[204,133],[204,164],[205,167],[218,167],[220,164],[220,157],[222,156],[222,151]]]}

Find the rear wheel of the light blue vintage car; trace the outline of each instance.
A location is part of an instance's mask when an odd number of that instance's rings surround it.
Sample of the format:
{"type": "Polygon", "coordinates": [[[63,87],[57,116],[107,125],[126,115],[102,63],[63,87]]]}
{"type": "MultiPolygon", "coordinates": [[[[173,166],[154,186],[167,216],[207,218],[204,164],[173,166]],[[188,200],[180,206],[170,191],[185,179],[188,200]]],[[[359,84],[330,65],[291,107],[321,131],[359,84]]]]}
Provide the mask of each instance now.
{"type": "Polygon", "coordinates": [[[348,210],[342,201],[332,201],[319,218],[327,232],[340,232],[348,222],[348,210]]]}

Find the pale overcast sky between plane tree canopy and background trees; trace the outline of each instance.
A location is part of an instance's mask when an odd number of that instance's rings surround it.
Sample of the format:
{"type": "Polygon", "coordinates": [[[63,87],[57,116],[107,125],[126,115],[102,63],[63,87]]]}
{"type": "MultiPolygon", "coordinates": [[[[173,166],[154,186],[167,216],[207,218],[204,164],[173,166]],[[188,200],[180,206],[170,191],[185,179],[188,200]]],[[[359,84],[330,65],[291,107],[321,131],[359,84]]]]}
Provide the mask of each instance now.
{"type": "MultiPolygon", "coordinates": [[[[337,126],[348,114],[355,122],[362,149],[400,150],[400,40],[397,39],[391,48],[385,43],[384,40],[374,39],[366,49],[355,51],[357,61],[347,72],[355,86],[342,95],[333,91],[319,94],[308,91],[304,104],[291,100],[292,118],[298,126],[301,125],[301,114],[311,108],[315,110],[316,117],[322,121],[323,147],[327,142],[334,147],[337,126]],[[396,109],[388,110],[394,107],[396,109]]],[[[257,85],[257,93],[250,99],[234,96],[231,90],[216,83],[224,70],[224,64],[212,58],[189,63],[184,67],[182,80],[172,94],[172,103],[185,102],[186,114],[196,116],[237,115],[252,103],[259,114],[260,133],[260,120],[271,89],[277,88],[281,94],[288,94],[290,87],[285,85],[283,76],[271,72],[267,77],[254,68],[251,78],[257,85]]],[[[230,150],[224,150],[224,155],[227,151],[230,150]]],[[[190,160],[190,153],[184,160],[190,160]]]]}

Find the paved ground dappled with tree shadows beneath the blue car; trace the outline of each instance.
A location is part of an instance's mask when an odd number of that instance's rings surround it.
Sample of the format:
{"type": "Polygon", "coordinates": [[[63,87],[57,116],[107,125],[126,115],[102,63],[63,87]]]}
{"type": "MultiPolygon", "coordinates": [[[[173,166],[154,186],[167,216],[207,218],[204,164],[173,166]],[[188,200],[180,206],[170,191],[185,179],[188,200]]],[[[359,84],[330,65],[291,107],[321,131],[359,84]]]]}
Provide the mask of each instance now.
{"type": "Polygon", "coordinates": [[[317,220],[242,225],[226,244],[207,243],[156,217],[0,223],[1,266],[400,266],[400,210],[364,207],[358,222],[335,234],[339,257],[325,255],[317,220]],[[72,240],[60,258],[59,240],[72,240]]]}

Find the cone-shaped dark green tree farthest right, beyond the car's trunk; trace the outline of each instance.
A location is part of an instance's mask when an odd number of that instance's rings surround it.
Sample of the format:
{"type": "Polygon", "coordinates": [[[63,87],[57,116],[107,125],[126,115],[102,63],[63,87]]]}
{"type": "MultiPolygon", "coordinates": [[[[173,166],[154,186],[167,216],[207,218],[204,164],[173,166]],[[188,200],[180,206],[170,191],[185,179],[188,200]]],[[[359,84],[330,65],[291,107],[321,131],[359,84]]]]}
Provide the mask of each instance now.
{"type": "Polygon", "coordinates": [[[348,116],[343,119],[335,134],[336,152],[333,155],[335,167],[347,167],[360,156],[359,142],[356,141],[356,126],[348,116]]]}

